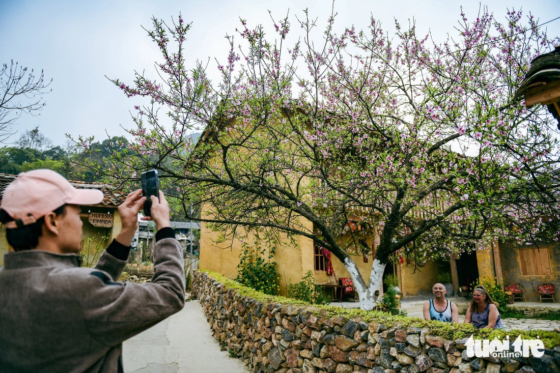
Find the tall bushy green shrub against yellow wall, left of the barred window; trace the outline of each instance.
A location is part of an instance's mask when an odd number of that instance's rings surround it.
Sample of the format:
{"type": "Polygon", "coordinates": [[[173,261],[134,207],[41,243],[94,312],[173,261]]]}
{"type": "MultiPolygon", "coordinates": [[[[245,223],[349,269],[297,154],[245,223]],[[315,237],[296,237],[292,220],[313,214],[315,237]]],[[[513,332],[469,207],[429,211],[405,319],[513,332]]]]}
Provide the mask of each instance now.
{"type": "Polygon", "coordinates": [[[237,265],[237,282],[241,285],[250,287],[256,291],[268,295],[278,295],[278,274],[276,273],[276,263],[270,259],[274,256],[274,249],[268,251],[267,261],[263,258],[265,249],[257,243],[249,246],[248,243],[242,245],[239,265],[237,265]]]}

